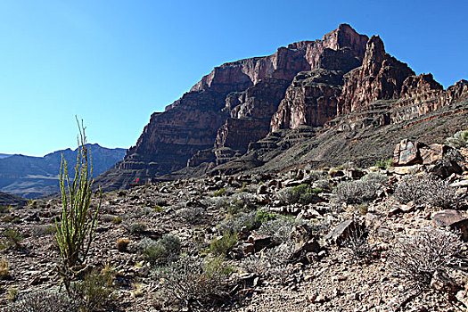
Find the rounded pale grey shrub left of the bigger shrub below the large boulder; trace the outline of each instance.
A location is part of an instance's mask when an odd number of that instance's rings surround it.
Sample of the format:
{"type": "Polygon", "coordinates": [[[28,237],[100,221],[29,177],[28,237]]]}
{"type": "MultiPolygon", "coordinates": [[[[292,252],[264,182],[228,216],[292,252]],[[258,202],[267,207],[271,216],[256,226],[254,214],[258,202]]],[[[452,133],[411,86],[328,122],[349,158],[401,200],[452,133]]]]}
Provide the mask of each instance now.
{"type": "Polygon", "coordinates": [[[347,204],[359,204],[366,201],[373,201],[380,185],[373,181],[357,180],[341,182],[333,189],[338,201],[347,204]]]}

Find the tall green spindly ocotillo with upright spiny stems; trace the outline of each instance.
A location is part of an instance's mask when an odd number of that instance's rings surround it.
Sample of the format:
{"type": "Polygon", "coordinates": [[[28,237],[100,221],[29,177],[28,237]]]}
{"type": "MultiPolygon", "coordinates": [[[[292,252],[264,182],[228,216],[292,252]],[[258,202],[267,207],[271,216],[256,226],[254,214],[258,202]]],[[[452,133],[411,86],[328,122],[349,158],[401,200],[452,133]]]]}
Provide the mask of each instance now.
{"type": "MultiPolygon", "coordinates": [[[[67,160],[63,158],[60,168],[60,190],[62,193],[62,223],[56,223],[56,239],[62,256],[62,274],[68,286],[67,276],[73,268],[86,262],[87,253],[94,240],[97,216],[101,208],[102,193],[94,213],[90,209],[93,198],[93,162],[86,144],[86,127],[78,123],[78,156],[75,177],[70,182],[67,160]]],[[[68,287],[67,287],[68,288],[68,287]]]]}

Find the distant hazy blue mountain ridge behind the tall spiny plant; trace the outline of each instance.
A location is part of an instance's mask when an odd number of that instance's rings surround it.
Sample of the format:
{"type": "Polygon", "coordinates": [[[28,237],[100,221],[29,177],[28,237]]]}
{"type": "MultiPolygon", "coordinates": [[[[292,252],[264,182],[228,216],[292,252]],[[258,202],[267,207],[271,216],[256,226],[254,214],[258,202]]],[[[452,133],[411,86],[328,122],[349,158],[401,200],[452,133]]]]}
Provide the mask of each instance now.
{"type": "MultiPolygon", "coordinates": [[[[97,177],[122,160],[125,149],[109,149],[90,144],[93,159],[93,177],[97,177]]],[[[62,154],[68,162],[70,177],[77,162],[77,150],[66,149],[51,152],[44,157],[12,155],[0,159],[0,191],[36,198],[59,192],[58,176],[62,154]]]]}

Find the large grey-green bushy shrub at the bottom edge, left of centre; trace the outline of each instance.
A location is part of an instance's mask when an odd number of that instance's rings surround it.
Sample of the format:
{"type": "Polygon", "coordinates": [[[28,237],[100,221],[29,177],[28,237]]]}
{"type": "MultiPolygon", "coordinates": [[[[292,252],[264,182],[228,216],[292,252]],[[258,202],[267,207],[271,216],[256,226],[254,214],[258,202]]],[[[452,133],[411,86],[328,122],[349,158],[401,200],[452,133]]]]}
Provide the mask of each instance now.
{"type": "Polygon", "coordinates": [[[160,308],[206,310],[209,305],[227,298],[226,266],[209,265],[206,260],[183,255],[167,267],[158,267],[153,275],[160,281],[157,304],[160,308]]]}

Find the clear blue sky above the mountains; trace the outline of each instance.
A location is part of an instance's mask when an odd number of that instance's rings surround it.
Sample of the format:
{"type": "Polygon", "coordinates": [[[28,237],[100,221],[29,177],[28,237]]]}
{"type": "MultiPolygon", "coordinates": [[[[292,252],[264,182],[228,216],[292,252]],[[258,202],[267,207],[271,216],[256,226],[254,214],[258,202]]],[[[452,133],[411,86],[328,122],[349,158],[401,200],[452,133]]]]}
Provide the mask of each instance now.
{"type": "Polygon", "coordinates": [[[382,37],[445,87],[468,78],[468,1],[0,1],[0,152],[135,144],[217,65],[321,38],[340,23],[382,37]]]}

